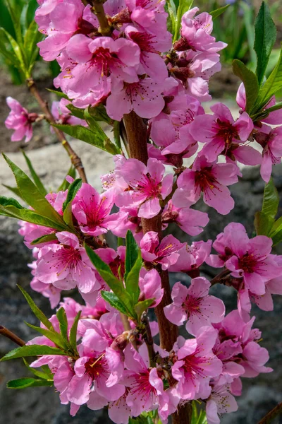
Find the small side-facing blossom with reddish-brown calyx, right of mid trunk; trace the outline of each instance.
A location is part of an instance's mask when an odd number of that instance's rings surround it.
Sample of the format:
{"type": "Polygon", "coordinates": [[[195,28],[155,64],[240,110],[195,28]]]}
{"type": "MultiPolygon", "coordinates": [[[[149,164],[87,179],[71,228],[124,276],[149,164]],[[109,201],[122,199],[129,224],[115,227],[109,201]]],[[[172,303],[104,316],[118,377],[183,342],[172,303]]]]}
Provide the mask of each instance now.
{"type": "Polygon", "coordinates": [[[177,208],[170,200],[161,215],[161,222],[176,223],[187,234],[198,235],[204,231],[203,227],[209,223],[209,216],[205,212],[191,209],[190,206],[177,208]]]}

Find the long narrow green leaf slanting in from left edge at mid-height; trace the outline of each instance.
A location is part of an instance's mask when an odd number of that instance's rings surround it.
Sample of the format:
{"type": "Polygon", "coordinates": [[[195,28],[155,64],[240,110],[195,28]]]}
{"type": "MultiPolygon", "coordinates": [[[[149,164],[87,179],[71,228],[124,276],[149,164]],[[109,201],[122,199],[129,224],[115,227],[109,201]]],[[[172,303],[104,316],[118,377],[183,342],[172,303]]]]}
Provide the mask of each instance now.
{"type": "Polygon", "coordinates": [[[59,231],[68,229],[66,225],[61,225],[54,220],[45,218],[44,216],[41,216],[34,211],[30,211],[30,209],[19,209],[13,205],[8,205],[5,207],[0,205],[0,215],[9,216],[10,218],[21,219],[26,221],[27,223],[38,224],[44,227],[54,228],[59,231]]]}

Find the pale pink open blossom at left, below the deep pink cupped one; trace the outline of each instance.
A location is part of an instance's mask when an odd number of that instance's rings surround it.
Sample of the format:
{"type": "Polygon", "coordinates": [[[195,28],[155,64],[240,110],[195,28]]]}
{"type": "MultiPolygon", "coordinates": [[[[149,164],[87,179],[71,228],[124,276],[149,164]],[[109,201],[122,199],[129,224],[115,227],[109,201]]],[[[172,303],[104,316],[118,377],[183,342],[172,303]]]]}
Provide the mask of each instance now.
{"type": "Polygon", "coordinates": [[[78,286],[80,293],[93,293],[101,285],[90,266],[85,249],[80,247],[78,237],[71,232],[57,232],[60,244],[42,247],[39,252],[35,276],[46,284],[61,290],[78,286]]]}

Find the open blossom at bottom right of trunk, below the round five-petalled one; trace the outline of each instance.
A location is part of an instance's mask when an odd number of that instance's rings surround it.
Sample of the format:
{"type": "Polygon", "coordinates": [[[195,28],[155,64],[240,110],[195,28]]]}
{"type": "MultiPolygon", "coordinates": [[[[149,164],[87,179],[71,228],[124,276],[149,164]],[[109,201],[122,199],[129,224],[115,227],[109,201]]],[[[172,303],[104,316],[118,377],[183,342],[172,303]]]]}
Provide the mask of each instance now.
{"type": "Polygon", "coordinates": [[[171,372],[178,382],[176,389],[181,399],[206,399],[209,396],[209,381],[222,370],[221,360],[212,353],[215,341],[216,331],[212,327],[202,327],[197,338],[185,340],[178,337],[173,347],[177,360],[171,372]]]}

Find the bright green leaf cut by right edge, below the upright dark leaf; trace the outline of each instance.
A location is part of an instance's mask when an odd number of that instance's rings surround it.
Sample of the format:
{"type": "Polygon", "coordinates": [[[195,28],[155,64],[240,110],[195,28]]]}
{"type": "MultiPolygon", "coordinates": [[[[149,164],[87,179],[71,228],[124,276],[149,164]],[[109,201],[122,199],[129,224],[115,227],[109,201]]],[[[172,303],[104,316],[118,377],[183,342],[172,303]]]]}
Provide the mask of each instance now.
{"type": "Polygon", "coordinates": [[[255,102],[253,113],[262,110],[262,108],[267,105],[271,97],[282,88],[282,49],[280,52],[280,56],[278,62],[274,68],[274,70],[267,78],[266,82],[260,88],[259,95],[257,96],[257,101],[255,102]]]}

